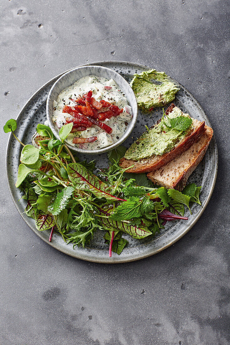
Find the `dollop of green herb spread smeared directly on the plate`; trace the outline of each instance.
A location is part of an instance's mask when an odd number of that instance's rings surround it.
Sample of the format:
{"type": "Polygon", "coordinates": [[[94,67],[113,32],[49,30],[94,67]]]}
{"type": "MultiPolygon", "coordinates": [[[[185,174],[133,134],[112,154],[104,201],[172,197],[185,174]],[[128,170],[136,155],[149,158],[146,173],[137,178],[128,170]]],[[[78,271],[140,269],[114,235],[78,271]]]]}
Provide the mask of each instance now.
{"type": "Polygon", "coordinates": [[[155,69],[134,74],[130,86],[135,93],[138,107],[143,111],[151,111],[171,102],[180,90],[164,72],[155,69]]]}

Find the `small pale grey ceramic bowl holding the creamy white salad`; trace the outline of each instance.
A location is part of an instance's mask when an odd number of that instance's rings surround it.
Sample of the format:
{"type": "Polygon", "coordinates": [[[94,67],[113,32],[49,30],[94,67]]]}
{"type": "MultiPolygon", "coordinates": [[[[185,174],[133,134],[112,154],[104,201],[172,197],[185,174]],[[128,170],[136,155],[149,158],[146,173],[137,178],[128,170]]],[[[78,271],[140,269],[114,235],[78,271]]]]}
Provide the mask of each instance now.
{"type": "Polygon", "coordinates": [[[128,100],[129,105],[132,107],[132,120],[128,123],[128,126],[126,128],[126,131],[124,132],[123,136],[115,142],[115,144],[103,147],[101,149],[97,150],[85,150],[85,149],[80,149],[76,146],[72,146],[65,142],[65,144],[74,151],[84,153],[84,154],[101,154],[103,152],[110,151],[114,149],[115,147],[119,146],[122,144],[125,139],[131,134],[135,123],[136,123],[136,118],[137,118],[137,101],[136,97],[134,95],[134,92],[129,85],[129,83],[117,72],[110,68],[102,67],[102,66],[81,66],[77,67],[74,69],[71,69],[70,71],[66,72],[64,75],[62,75],[51,87],[49,91],[49,95],[47,98],[46,102],[46,115],[47,115],[47,120],[49,122],[49,127],[51,128],[52,132],[54,133],[55,137],[60,140],[58,131],[54,126],[54,123],[52,121],[52,115],[53,115],[53,101],[57,100],[57,97],[59,93],[67,88],[68,86],[72,85],[76,80],[86,77],[86,76],[98,76],[98,77],[103,77],[106,79],[113,79],[119,89],[121,89],[125,93],[125,97],[128,100]]]}

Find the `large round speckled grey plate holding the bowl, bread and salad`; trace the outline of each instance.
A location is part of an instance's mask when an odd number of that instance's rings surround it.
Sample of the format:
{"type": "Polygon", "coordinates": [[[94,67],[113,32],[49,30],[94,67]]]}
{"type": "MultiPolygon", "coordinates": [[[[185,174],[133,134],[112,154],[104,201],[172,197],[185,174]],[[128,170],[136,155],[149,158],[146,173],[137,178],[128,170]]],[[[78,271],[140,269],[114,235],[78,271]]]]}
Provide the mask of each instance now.
{"type": "MultiPolygon", "coordinates": [[[[144,70],[149,69],[149,67],[143,65],[137,65],[134,63],[122,61],[96,62],[91,63],[90,65],[100,65],[114,69],[116,72],[121,73],[121,75],[128,82],[131,81],[133,73],[140,73],[144,70]]],[[[35,132],[37,123],[44,123],[44,121],[46,120],[47,95],[51,86],[60,76],[61,75],[51,79],[45,85],[43,85],[37,92],[35,92],[35,94],[28,100],[26,105],[19,113],[17,118],[18,128],[16,130],[16,135],[25,144],[30,144],[31,137],[35,132]]],[[[178,85],[181,89],[177,93],[174,103],[184,111],[185,109],[187,109],[187,111],[192,117],[197,118],[199,120],[205,120],[205,123],[211,127],[210,122],[207,116],[204,114],[204,111],[201,108],[200,104],[194,99],[194,97],[188,90],[186,90],[179,83],[178,85]]],[[[141,111],[138,111],[136,126],[130,137],[126,139],[123,145],[126,147],[130,146],[130,144],[133,141],[132,137],[136,138],[140,136],[140,134],[145,130],[145,125],[150,127],[161,116],[162,108],[156,109],[153,112],[153,116],[151,118],[149,118],[149,116],[144,115],[141,111]]],[[[53,234],[52,242],[49,242],[50,231],[38,231],[35,227],[35,221],[32,218],[29,218],[25,214],[23,214],[23,211],[26,207],[26,202],[25,200],[20,199],[20,191],[18,188],[15,187],[20,151],[20,144],[15,140],[15,138],[11,134],[7,146],[6,171],[11,197],[22,218],[42,240],[44,240],[52,247],[76,258],[98,263],[121,263],[142,259],[160,252],[161,250],[171,246],[174,242],[180,239],[197,222],[197,220],[202,215],[205,207],[207,206],[214,188],[218,165],[217,146],[213,135],[213,138],[210,142],[209,148],[205,154],[204,159],[189,178],[189,182],[195,182],[197,185],[202,186],[202,207],[200,207],[197,204],[192,205],[192,216],[189,214],[188,211],[185,214],[189,217],[188,221],[181,220],[175,222],[167,222],[165,229],[162,230],[158,236],[154,237],[154,239],[146,239],[140,241],[135,240],[128,235],[125,236],[125,238],[129,242],[128,246],[123,250],[123,252],[119,256],[117,254],[112,253],[112,258],[109,258],[108,246],[103,243],[104,241],[102,238],[102,231],[97,231],[94,234],[93,240],[89,248],[83,249],[75,247],[75,249],[73,249],[73,246],[71,244],[65,244],[61,236],[59,236],[58,234],[53,234]]],[[[85,155],[79,156],[80,159],[86,158],[85,155]]],[[[96,166],[98,168],[108,166],[107,154],[90,156],[87,158],[90,158],[90,160],[95,159],[96,166]]],[[[25,233],[26,231],[28,231],[27,227],[25,227],[25,233]]]]}

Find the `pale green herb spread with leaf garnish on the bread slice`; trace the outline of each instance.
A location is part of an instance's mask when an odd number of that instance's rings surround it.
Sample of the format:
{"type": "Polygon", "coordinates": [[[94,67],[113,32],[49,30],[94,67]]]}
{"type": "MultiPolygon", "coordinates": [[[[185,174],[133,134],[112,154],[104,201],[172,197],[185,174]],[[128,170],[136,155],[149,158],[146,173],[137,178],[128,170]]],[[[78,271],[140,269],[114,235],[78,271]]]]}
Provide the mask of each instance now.
{"type": "Polygon", "coordinates": [[[125,153],[126,159],[140,160],[153,155],[163,155],[185,137],[192,125],[189,115],[182,113],[178,107],[164,115],[153,128],[146,130],[133,142],[125,153]]]}

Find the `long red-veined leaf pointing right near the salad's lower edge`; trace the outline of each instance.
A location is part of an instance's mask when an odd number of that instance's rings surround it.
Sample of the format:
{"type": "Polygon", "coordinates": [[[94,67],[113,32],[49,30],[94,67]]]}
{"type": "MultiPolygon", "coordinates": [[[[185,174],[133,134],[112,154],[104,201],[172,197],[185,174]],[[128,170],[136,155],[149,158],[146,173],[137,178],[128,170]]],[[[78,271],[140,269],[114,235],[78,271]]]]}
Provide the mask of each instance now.
{"type": "MultiPolygon", "coordinates": [[[[98,213],[102,216],[109,216],[112,210],[112,208],[108,210],[98,209],[98,213]]],[[[105,230],[120,230],[137,239],[145,238],[152,234],[151,231],[149,231],[145,226],[130,225],[129,223],[126,223],[124,221],[112,220],[111,218],[102,217],[100,223],[105,227],[105,230]]]]}

